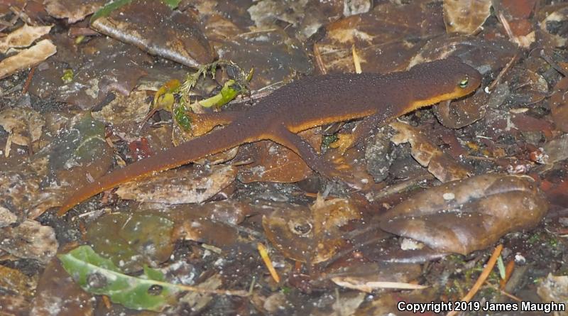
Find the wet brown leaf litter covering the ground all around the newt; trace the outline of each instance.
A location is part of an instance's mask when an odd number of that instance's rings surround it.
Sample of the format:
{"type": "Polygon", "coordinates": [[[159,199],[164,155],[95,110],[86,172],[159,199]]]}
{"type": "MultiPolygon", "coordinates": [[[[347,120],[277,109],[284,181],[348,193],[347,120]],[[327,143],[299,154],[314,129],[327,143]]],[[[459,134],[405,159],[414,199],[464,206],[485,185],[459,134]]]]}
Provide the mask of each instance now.
{"type": "Polygon", "coordinates": [[[565,302],[568,7],[541,2],[129,0],[94,16],[105,1],[0,4],[1,266],[39,279],[35,295],[13,285],[0,302],[11,315],[565,302]],[[210,129],[198,118],[253,107],[300,77],[354,71],[354,51],[364,72],[381,73],[457,56],[484,82],[403,116],[398,135],[381,129],[349,148],[341,135],[357,122],[302,134],[351,190],[265,141],[109,190],[67,217],[50,211],[184,141],[187,126],[210,129]],[[214,64],[187,94],[155,93],[217,58],[235,67],[214,64]],[[237,68],[253,69],[244,86],[237,68]],[[195,106],[219,96],[222,107],[195,106]],[[495,268],[479,284],[498,243],[510,278],[495,268]]]}

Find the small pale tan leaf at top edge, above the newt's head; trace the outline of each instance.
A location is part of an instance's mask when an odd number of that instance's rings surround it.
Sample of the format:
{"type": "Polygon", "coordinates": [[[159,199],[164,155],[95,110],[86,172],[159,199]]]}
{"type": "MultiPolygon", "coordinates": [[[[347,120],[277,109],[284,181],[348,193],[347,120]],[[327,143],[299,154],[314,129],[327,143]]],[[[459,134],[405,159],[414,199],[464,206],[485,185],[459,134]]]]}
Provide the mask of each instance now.
{"type": "Polygon", "coordinates": [[[491,0],[444,0],[448,33],[474,34],[491,14],[491,0]]]}

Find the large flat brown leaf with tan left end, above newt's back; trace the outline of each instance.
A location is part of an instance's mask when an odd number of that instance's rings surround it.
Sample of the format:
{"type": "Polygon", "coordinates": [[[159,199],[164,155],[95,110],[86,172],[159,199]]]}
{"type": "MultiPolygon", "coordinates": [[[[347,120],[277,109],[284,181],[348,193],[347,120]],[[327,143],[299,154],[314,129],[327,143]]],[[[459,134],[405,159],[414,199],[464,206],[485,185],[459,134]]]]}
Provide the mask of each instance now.
{"type": "Polygon", "coordinates": [[[442,4],[383,1],[368,13],[327,24],[326,31],[315,45],[329,72],[354,72],[353,45],[364,72],[405,70],[427,38],[445,33],[442,4]]]}

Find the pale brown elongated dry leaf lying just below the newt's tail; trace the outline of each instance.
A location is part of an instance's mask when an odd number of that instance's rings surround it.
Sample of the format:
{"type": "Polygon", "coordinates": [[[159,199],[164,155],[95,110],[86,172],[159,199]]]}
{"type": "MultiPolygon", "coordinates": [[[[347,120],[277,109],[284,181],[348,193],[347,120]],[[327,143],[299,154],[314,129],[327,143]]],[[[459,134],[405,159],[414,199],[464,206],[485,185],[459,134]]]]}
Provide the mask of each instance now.
{"type": "Polygon", "coordinates": [[[168,204],[201,203],[223,190],[236,178],[231,165],[183,167],[144,181],[125,183],[116,194],[125,200],[168,204]]]}

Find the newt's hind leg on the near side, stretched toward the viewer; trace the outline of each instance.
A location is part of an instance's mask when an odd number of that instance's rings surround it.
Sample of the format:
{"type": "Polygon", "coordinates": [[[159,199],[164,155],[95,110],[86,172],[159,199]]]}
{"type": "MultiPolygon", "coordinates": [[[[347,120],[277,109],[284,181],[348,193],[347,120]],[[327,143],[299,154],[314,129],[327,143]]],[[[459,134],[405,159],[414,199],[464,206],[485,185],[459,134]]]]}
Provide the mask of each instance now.
{"type": "Polygon", "coordinates": [[[284,126],[277,129],[268,138],[275,143],[290,148],[290,150],[300,156],[312,170],[320,173],[320,175],[323,175],[325,178],[339,180],[340,173],[333,167],[332,163],[327,163],[307,141],[291,131],[288,131],[284,126]]]}

